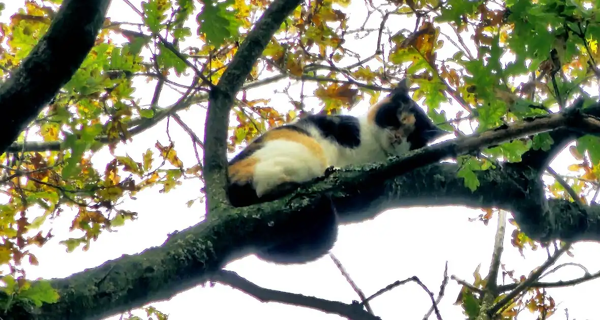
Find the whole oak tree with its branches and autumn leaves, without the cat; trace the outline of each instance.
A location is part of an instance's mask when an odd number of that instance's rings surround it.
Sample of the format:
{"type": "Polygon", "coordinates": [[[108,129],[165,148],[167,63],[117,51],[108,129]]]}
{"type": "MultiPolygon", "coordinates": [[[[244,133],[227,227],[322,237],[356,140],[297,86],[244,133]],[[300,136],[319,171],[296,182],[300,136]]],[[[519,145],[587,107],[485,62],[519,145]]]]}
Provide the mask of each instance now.
{"type": "Polygon", "coordinates": [[[518,299],[544,287],[539,276],[572,243],[600,240],[597,0],[365,1],[363,21],[350,18],[349,0],[122,1],[140,22],[106,18],[110,0],[32,0],[0,23],[2,319],[101,319],[209,280],[248,285],[223,266],[286,237],[279,226],[315,221],[311,209],[325,200],[343,224],[397,207],[481,208],[482,221],[510,212],[518,250],[554,245],[544,265],[505,286],[496,250],[485,279],[461,283],[470,319],[512,319],[524,305],[554,312],[541,295],[518,299]],[[229,205],[228,153],[303,113],[372,104],[401,79],[455,138],[389,164],[341,168],[270,203],[229,205]],[[140,81],[155,86],[147,104],[140,81]],[[287,105],[270,93],[248,99],[275,84],[287,105]],[[167,94],[176,101],[164,104],[167,94]],[[204,132],[179,115],[190,108],[205,110],[204,132]],[[188,132],[196,161],[178,157],[190,146],[168,131],[143,153],[125,152],[163,120],[188,132]],[[569,176],[550,167],[566,147],[569,176]],[[109,161],[92,161],[100,150],[109,161]],[[125,198],[154,186],[177,192],[186,179],[203,185],[188,203],[206,206],[197,225],[64,279],[26,278],[23,263],[37,264],[31,246],[53,237],[45,228],[61,213],[73,214],[65,248],[86,250],[143,214],[123,209],[125,198]]]}

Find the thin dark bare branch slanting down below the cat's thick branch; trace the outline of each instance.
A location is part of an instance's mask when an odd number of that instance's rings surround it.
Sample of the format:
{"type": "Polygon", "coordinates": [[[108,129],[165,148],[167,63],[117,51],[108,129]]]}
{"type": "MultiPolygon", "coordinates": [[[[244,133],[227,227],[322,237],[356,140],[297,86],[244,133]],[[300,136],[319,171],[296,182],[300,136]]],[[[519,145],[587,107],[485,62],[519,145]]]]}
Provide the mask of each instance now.
{"type": "Polygon", "coordinates": [[[316,297],[307,297],[301,294],[262,288],[261,286],[257,286],[244,279],[233,271],[218,271],[211,279],[215,282],[236,288],[239,291],[256,298],[260,302],[278,302],[290,304],[292,306],[301,306],[325,313],[332,313],[351,320],[381,320],[379,317],[362,310],[362,307],[356,304],[346,304],[316,297]]]}

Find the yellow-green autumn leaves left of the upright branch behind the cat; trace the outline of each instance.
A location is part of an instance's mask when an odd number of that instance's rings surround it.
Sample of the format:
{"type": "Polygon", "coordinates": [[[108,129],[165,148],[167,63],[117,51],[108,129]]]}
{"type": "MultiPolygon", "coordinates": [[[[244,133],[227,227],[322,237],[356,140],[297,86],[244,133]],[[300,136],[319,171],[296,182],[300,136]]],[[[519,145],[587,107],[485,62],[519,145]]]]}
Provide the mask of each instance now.
{"type": "MultiPolygon", "coordinates": [[[[25,8],[14,14],[10,23],[0,24],[3,77],[19,65],[46,32],[60,2],[45,5],[26,1],[25,8]]],[[[171,6],[169,1],[151,3],[150,7],[163,13],[165,7],[171,6]]],[[[193,5],[191,1],[179,4],[181,7],[172,9],[176,11],[172,20],[181,24],[193,5]]],[[[152,28],[151,23],[148,25],[152,28]]],[[[184,167],[172,142],[163,146],[157,141],[142,155],[115,153],[119,142],[131,140],[134,134],[154,125],[168,112],[200,101],[197,92],[190,92],[187,98],[194,99],[167,108],[159,108],[155,102],[140,105],[139,99],[133,97],[136,77],[164,78],[170,69],[177,71],[178,64],[185,69],[185,62],[160,43],[152,42],[152,37],[120,26],[122,23],[106,19],[94,48],[79,70],[20,135],[17,143],[23,149],[17,147],[14,152],[0,156],[0,191],[5,196],[0,205],[0,265],[7,267],[3,270],[10,270],[13,277],[1,278],[3,291],[10,289],[7,282],[10,279],[25,279],[20,267],[23,258],[37,265],[28,247],[43,246],[53,236],[40,228],[66,207],[75,213],[70,231],[79,235],[61,242],[69,251],[79,246],[87,250],[90,241],[97,239],[102,231],[136,218],[137,213],[118,208],[123,197],[133,198],[137,192],[156,185],[163,186],[160,192],[169,192],[181,184],[181,179],[201,176],[199,165],[184,167]],[[116,45],[112,40],[115,34],[125,35],[129,41],[116,45]],[[152,59],[145,59],[143,49],[162,50],[152,59]],[[100,167],[92,165],[92,156],[104,146],[109,147],[112,159],[100,167]]],[[[185,37],[182,30],[172,28],[173,34],[183,33],[181,37],[185,37]]]]}

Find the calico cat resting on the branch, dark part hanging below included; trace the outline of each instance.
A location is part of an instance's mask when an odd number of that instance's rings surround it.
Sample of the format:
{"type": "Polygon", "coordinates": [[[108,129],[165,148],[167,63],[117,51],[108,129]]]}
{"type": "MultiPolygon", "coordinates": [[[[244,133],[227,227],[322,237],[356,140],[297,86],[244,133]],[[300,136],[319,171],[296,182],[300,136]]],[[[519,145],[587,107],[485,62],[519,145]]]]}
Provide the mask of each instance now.
{"type": "MultiPolygon", "coordinates": [[[[385,162],[448,133],[410,98],[403,80],[362,116],[310,114],[265,132],[229,161],[227,195],[235,207],[271,201],[282,190],[323,176],[330,167],[385,162]]],[[[292,264],[329,252],[337,239],[335,208],[327,201],[318,206],[322,221],[290,225],[286,240],[259,250],[257,256],[292,264]]]]}

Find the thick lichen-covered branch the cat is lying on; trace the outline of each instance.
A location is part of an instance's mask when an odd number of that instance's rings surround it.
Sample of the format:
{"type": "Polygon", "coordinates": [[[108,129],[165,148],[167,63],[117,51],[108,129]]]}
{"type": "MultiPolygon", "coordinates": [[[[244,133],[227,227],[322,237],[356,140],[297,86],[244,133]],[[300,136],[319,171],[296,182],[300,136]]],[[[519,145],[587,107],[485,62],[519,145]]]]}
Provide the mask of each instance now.
{"type": "Polygon", "coordinates": [[[146,249],[138,255],[124,255],[64,279],[51,280],[61,297],[57,303],[40,308],[15,304],[1,316],[4,320],[69,316],[102,319],[152,301],[167,300],[210,279],[228,262],[253,253],[255,247],[283,239],[289,230],[282,230],[282,224],[302,225],[314,221],[319,212],[312,209],[324,197],[334,202],[344,224],[372,219],[384,210],[398,207],[497,207],[512,211],[521,227],[527,225],[524,222],[533,221],[541,225],[539,228],[549,230],[544,236],[599,241],[600,206],[550,200],[547,207],[554,216],[555,226],[551,229],[549,222],[542,219],[544,215],[535,211],[539,211],[539,207],[521,204],[532,201],[533,196],[521,185],[524,177],[538,179],[533,170],[528,172],[518,164],[507,164],[477,171],[480,186],[472,192],[464,186],[464,180],[457,177],[456,164],[435,163],[458,152],[470,152],[569,122],[569,116],[556,114],[476,137],[445,141],[404,158],[392,159],[389,165],[335,171],[327,179],[271,203],[220,208],[217,215],[171,235],[160,247],[146,249]],[[527,211],[519,211],[523,208],[527,211]]]}

